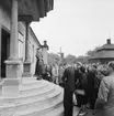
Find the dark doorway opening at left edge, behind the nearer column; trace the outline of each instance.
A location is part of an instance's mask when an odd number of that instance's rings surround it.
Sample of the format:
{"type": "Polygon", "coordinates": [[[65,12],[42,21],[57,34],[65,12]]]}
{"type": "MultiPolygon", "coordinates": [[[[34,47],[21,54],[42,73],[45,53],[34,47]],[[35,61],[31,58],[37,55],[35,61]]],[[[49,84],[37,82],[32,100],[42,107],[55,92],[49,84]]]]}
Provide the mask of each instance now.
{"type": "Polygon", "coordinates": [[[4,29],[1,30],[1,78],[5,77],[5,63],[10,56],[10,33],[4,29]]]}

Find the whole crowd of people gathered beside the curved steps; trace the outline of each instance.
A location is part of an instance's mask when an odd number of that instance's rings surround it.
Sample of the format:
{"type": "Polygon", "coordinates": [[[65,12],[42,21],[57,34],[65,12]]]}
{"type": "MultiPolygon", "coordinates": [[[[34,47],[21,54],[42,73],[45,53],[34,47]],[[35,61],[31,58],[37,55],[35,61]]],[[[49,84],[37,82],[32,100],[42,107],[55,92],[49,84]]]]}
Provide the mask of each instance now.
{"type": "Polygon", "coordinates": [[[65,116],[72,116],[73,105],[80,107],[80,116],[84,116],[88,108],[95,116],[113,116],[114,62],[49,66],[37,61],[37,80],[44,78],[64,87],[65,116]],[[77,104],[73,104],[73,95],[77,104]]]}

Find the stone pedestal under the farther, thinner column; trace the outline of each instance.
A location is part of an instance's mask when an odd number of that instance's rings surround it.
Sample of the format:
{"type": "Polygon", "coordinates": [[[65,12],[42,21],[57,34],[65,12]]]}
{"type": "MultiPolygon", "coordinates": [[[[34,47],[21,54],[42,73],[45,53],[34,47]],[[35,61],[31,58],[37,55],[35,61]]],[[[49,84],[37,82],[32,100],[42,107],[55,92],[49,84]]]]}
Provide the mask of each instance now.
{"type": "Polygon", "coordinates": [[[31,73],[31,62],[23,63],[23,74],[22,77],[32,77],[31,73]]]}

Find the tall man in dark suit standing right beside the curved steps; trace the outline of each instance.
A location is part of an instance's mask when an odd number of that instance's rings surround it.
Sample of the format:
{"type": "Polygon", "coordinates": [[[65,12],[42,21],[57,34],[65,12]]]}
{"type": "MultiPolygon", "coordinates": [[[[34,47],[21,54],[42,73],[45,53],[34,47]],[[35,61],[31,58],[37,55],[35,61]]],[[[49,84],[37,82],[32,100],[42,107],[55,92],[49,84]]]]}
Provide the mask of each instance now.
{"type": "Polygon", "coordinates": [[[73,108],[73,92],[75,92],[75,68],[67,67],[62,75],[62,81],[65,82],[65,93],[64,93],[64,108],[65,116],[72,116],[73,108]]]}

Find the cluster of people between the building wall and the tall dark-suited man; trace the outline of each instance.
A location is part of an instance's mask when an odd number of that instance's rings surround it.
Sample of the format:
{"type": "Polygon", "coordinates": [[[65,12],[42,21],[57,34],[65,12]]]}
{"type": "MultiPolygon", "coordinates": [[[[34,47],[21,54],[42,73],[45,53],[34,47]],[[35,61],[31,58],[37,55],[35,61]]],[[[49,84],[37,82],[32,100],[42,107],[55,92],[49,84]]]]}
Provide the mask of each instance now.
{"type": "Polygon", "coordinates": [[[43,78],[62,86],[61,76],[64,74],[64,71],[65,65],[58,65],[57,63],[54,65],[46,65],[44,64],[42,59],[37,57],[34,76],[36,76],[37,80],[43,78]]]}

